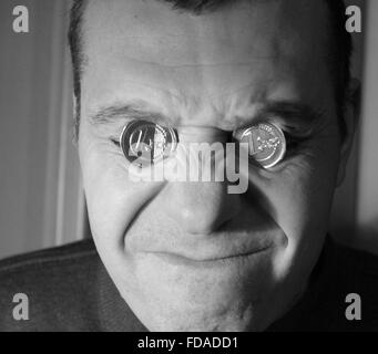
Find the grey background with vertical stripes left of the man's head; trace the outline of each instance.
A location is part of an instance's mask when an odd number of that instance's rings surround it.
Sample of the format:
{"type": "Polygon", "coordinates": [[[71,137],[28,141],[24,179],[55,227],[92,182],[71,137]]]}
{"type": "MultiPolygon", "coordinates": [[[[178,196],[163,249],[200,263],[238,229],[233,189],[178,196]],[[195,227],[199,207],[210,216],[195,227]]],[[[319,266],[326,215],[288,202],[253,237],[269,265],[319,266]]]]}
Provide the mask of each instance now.
{"type": "Polygon", "coordinates": [[[69,1],[0,1],[0,258],[82,238],[72,136],[69,1]],[[27,6],[30,32],[12,31],[27,6]]]}

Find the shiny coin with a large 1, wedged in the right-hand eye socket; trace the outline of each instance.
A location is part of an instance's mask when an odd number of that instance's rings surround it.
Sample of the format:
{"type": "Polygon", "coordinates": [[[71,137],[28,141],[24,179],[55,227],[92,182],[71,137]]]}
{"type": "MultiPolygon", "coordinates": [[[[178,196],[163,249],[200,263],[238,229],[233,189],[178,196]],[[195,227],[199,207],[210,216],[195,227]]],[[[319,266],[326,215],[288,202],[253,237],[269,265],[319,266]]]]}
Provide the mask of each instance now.
{"type": "Polygon", "coordinates": [[[283,131],[272,123],[248,127],[235,136],[248,146],[249,157],[264,168],[276,166],[285,156],[286,139],[283,131]]]}

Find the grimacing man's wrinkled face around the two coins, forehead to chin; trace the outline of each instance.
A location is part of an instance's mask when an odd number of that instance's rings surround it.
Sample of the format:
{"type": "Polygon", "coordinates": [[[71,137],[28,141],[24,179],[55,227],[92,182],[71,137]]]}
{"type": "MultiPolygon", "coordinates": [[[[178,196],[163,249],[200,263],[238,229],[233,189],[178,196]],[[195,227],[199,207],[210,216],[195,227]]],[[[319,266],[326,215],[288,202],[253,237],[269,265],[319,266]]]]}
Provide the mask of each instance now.
{"type": "Polygon", "coordinates": [[[319,1],[241,1],[202,15],[160,1],[89,2],[79,150],[90,223],[149,330],[264,330],[303,294],[340,167],[327,18],[319,1]],[[114,114],[122,106],[208,143],[264,111],[298,142],[270,169],[251,165],[246,194],[136,183],[114,140],[141,116],[114,114]]]}

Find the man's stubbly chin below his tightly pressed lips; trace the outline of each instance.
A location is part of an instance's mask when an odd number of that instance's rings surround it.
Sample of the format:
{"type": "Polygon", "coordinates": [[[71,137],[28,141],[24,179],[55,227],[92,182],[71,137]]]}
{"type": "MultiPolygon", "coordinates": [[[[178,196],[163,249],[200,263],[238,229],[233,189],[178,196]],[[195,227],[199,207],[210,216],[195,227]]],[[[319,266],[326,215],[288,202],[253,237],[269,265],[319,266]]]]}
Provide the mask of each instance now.
{"type": "Polygon", "coordinates": [[[267,306],[268,296],[252,300],[251,292],[235,292],[231,288],[192,292],[192,296],[186,295],[186,289],[181,294],[171,290],[171,296],[164,287],[155,288],[154,292],[144,290],[139,296],[123,298],[152,332],[259,332],[274,315],[274,309],[267,306]]]}

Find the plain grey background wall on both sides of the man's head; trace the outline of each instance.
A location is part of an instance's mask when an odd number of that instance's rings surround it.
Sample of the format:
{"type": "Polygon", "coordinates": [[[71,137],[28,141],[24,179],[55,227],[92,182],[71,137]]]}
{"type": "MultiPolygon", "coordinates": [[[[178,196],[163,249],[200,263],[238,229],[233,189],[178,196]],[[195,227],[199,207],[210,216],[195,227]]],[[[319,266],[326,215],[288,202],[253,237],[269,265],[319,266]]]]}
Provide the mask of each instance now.
{"type": "MultiPolygon", "coordinates": [[[[0,258],[81,239],[86,233],[72,138],[71,69],[65,43],[69,1],[0,1],[0,258]],[[12,9],[30,11],[30,33],[12,31],[12,9]]],[[[378,253],[378,1],[355,35],[354,73],[364,80],[360,131],[337,191],[331,230],[378,253]],[[364,40],[366,58],[364,65],[364,40]]]]}

